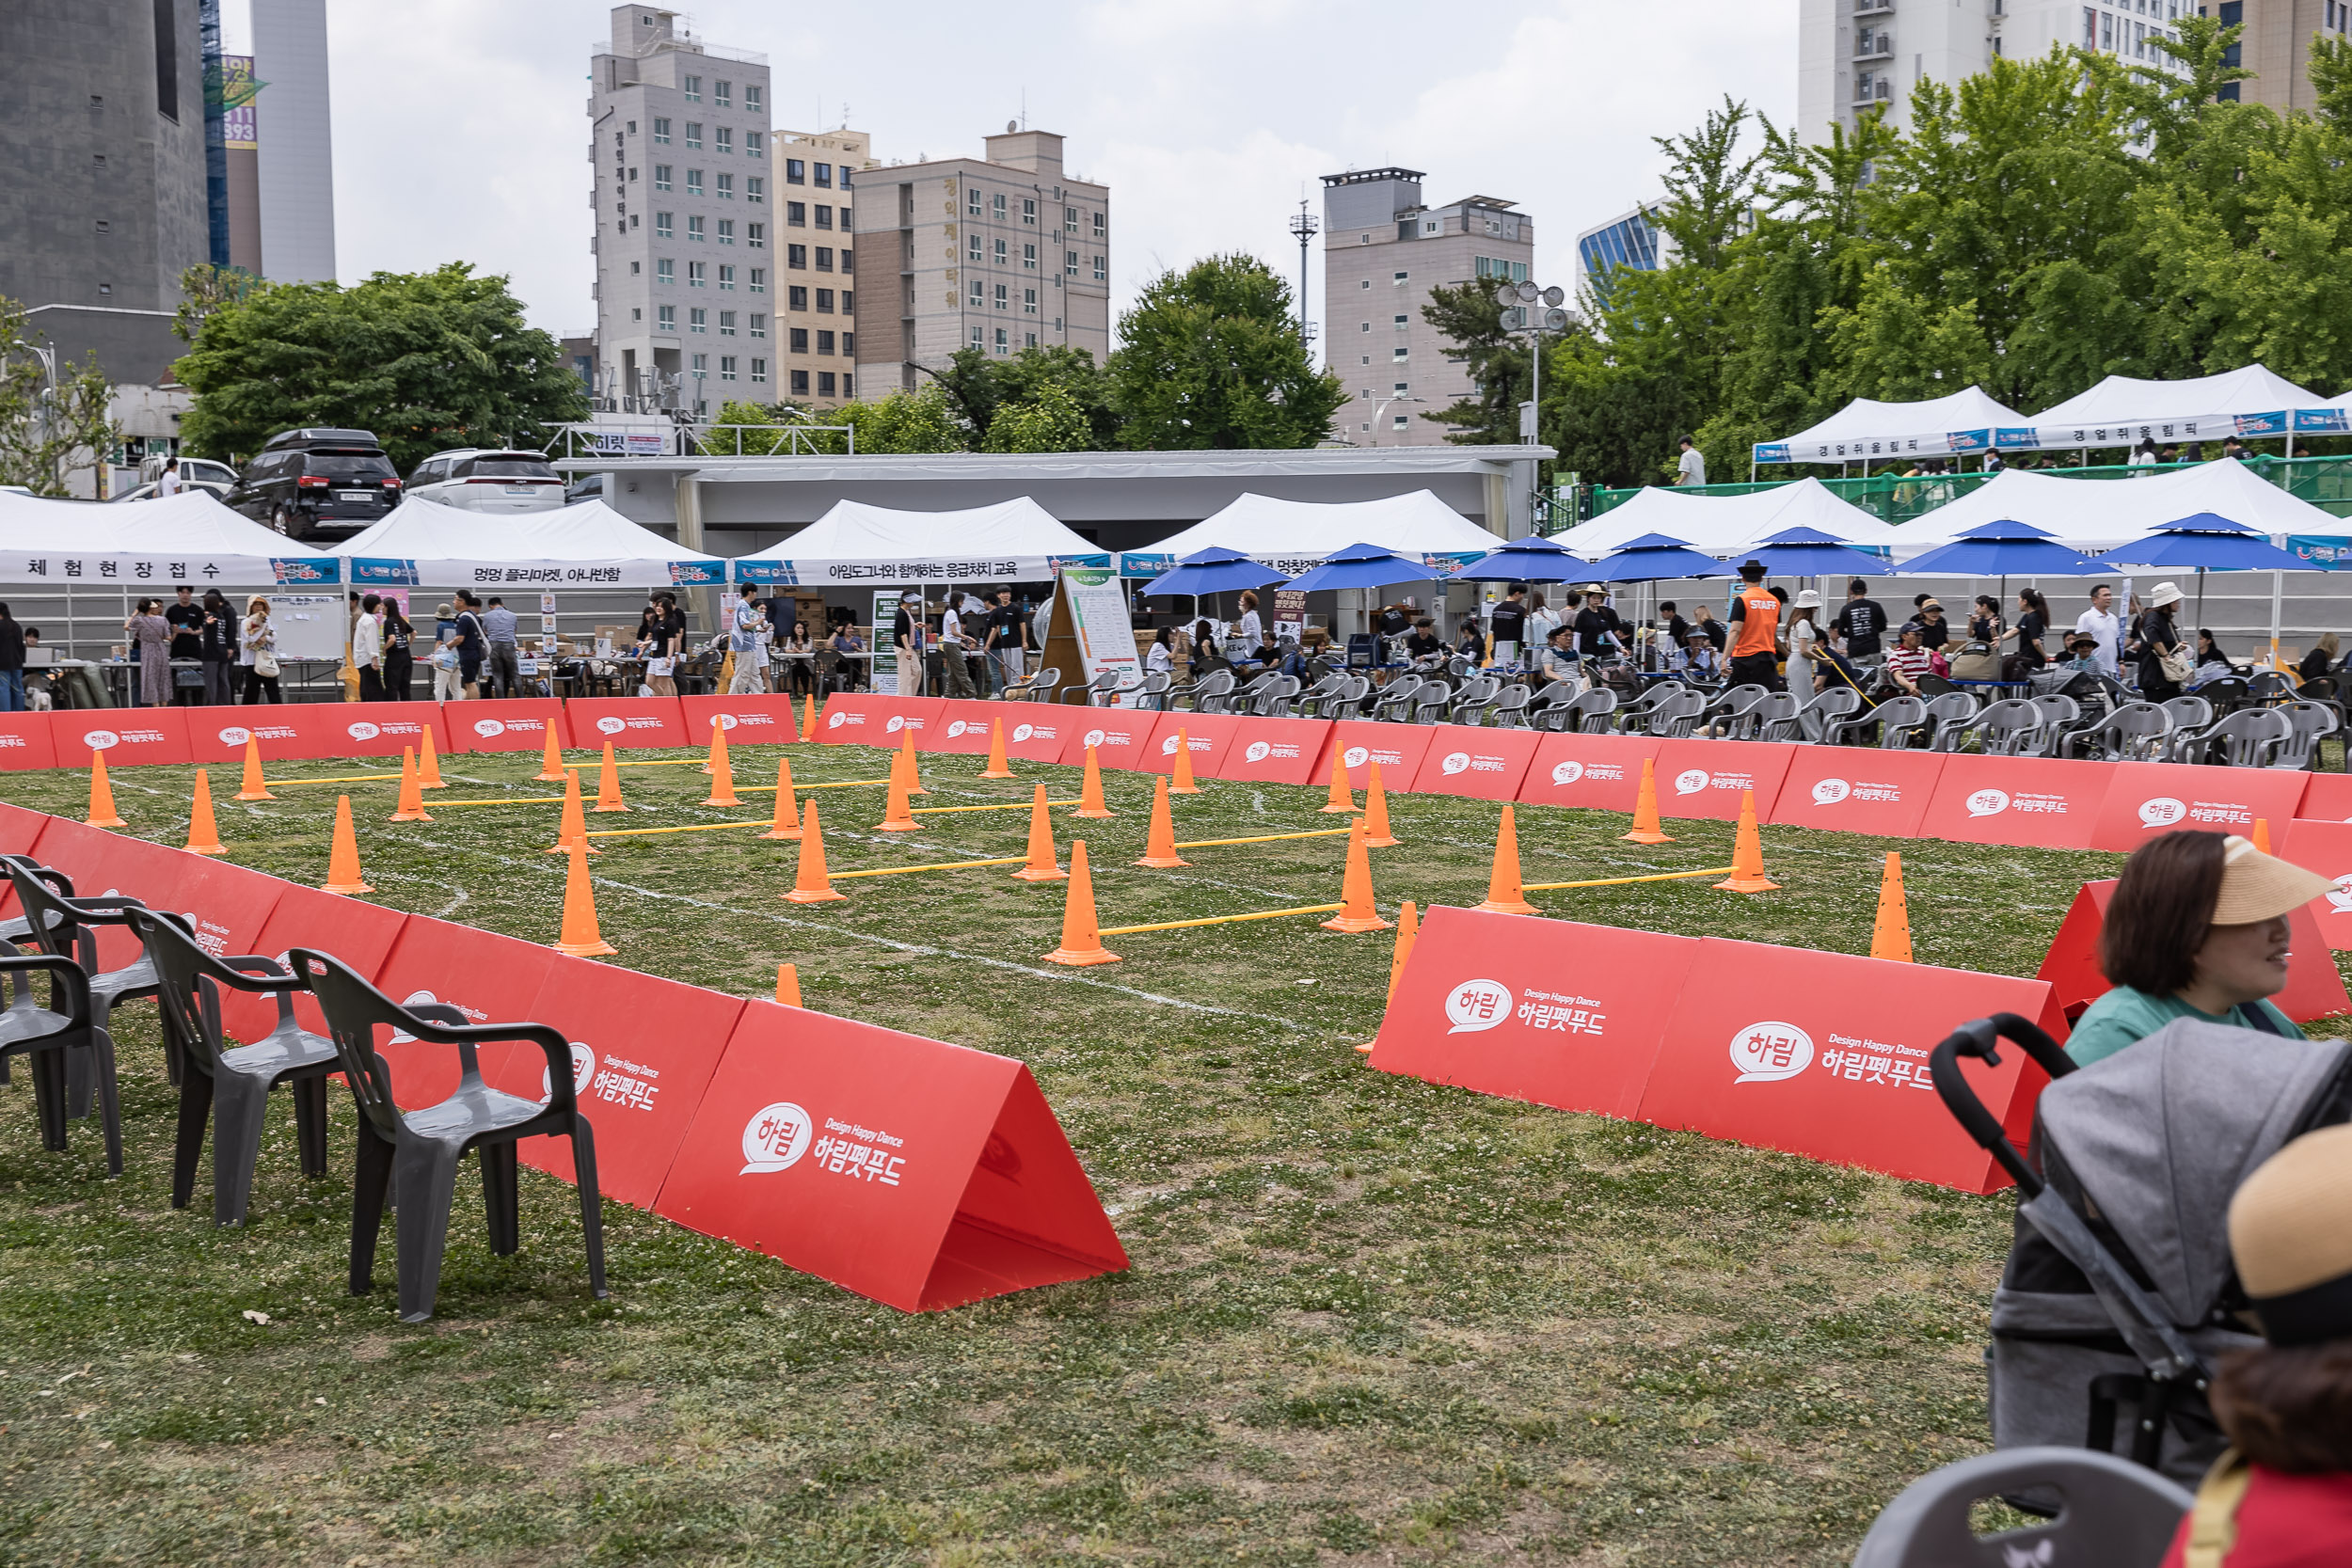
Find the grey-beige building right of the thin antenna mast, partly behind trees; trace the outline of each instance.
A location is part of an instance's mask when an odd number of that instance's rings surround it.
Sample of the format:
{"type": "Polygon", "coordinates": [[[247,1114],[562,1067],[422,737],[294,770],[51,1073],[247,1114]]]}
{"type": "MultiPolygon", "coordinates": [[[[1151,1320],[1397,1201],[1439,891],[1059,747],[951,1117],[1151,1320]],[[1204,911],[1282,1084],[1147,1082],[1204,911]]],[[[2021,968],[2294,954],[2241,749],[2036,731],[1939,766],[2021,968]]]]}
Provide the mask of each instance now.
{"type": "MultiPolygon", "coordinates": [[[[1421,202],[1421,169],[1324,174],[1324,362],[1348,388],[1331,418],[1355,447],[1435,447],[1421,418],[1477,388],[1421,308],[1437,284],[1526,282],[1536,221],[1491,195],[1421,202]]],[[[1543,280],[1538,280],[1543,282],[1543,280]]]]}

